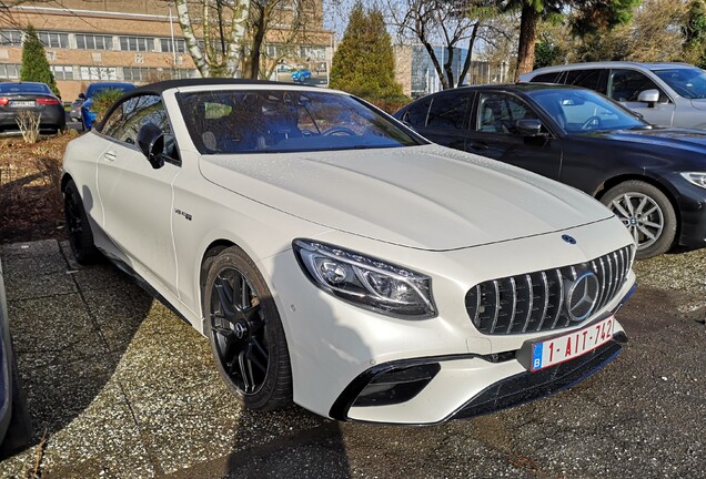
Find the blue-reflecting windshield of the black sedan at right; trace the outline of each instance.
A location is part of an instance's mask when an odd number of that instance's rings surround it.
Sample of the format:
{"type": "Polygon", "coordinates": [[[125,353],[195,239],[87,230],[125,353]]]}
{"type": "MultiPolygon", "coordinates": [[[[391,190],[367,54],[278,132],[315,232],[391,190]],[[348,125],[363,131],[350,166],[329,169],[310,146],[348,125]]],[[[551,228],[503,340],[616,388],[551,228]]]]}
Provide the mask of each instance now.
{"type": "Polygon", "coordinates": [[[650,128],[629,111],[588,90],[536,90],[528,94],[567,132],[650,128]]]}

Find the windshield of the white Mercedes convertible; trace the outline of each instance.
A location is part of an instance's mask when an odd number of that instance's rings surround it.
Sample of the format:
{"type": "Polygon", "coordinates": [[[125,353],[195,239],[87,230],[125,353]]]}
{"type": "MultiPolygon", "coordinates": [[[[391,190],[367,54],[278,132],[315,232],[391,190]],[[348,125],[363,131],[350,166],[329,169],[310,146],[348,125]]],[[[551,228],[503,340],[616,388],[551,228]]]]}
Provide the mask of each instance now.
{"type": "Polygon", "coordinates": [[[411,134],[349,95],[297,90],[179,94],[186,128],[203,154],[409,146],[411,134]]]}

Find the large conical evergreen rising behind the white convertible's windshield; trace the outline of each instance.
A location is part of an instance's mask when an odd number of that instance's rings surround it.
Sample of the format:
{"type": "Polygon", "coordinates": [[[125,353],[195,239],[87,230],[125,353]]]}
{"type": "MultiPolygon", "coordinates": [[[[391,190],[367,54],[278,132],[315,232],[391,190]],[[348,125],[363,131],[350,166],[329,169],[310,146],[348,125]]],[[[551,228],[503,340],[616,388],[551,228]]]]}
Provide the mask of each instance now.
{"type": "Polygon", "coordinates": [[[395,81],[392,41],[380,10],[366,13],[360,1],[353,6],[343,40],[333,55],[331,88],[371,101],[402,96],[402,86],[395,81]]]}

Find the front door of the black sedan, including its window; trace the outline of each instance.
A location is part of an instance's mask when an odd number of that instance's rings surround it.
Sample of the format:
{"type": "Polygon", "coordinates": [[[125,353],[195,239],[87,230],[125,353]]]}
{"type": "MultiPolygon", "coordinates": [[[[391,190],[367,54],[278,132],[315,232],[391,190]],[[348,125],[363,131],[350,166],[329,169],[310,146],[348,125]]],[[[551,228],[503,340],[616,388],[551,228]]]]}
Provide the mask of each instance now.
{"type": "Polygon", "coordinates": [[[541,120],[530,104],[513,94],[480,92],[466,140],[466,151],[557,180],[562,161],[559,140],[546,126],[541,136],[522,134],[516,123],[523,119],[541,120]]]}

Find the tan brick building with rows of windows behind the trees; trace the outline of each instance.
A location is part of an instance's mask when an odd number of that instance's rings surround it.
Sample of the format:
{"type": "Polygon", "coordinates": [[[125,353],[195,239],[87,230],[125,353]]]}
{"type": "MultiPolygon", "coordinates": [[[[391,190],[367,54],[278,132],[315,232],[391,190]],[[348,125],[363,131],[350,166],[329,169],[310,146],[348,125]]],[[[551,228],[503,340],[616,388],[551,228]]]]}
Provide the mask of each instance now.
{"type": "MultiPolygon", "coordinates": [[[[306,41],[290,41],[286,55],[268,57],[283,50],[278,41],[286,38],[282,32],[288,29],[279,26],[268,33],[272,41],[265,41],[263,54],[276,62],[272,78],[289,80],[297,69],[312,69],[314,78],[316,72],[319,78],[327,74],[333,33],[323,29],[322,0],[312,1],[316,23],[310,26],[306,41]]],[[[44,44],[64,101],[97,81],[144,84],[200,77],[168,0],[26,1],[10,7],[0,16],[0,81],[20,78],[23,29],[29,24],[44,44]]]]}

